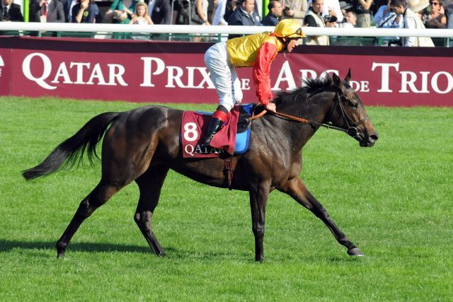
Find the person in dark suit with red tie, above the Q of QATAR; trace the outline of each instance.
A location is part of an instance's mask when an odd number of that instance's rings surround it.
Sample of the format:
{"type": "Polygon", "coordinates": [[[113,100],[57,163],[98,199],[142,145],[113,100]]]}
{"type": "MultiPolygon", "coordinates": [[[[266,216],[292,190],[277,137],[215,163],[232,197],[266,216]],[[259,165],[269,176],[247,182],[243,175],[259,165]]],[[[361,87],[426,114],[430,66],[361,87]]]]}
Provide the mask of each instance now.
{"type": "Polygon", "coordinates": [[[63,23],[64,9],[60,0],[30,0],[30,22],[63,23]]]}

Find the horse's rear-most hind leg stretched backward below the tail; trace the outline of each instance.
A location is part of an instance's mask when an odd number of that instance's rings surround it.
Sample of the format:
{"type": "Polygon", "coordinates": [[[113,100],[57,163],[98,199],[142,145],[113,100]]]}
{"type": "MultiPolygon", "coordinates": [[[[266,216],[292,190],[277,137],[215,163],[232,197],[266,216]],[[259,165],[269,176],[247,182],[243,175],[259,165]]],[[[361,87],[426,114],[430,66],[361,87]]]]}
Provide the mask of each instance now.
{"type": "Polygon", "coordinates": [[[80,205],[79,209],[77,209],[76,214],[74,214],[74,218],[67,226],[66,230],[64,231],[61,238],[59,238],[57,242],[57,257],[64,257],[64,252],[66,251],[67,245],[71,240],[74,233],[76,233],[77,229],[87,219],[93,211],[101,207],[101,205],[105,204],[105,202],[112,197],[120,188],[113,186],[113,185],[105,185],[100,182],[94,189],[85,197],[80,205]]]}

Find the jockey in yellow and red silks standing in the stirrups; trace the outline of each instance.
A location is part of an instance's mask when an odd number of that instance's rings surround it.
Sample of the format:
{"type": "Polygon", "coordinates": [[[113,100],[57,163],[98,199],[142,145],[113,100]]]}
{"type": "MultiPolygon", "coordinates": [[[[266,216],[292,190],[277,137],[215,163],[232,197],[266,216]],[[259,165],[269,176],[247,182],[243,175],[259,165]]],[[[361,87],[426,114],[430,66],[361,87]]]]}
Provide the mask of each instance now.
{"type": "Polygon", "coordinates": [[[273,99],[273,93],[270,91],[270,64],[278,52],[291,52],[297,46],[297,40],[304,36],[297,21],[285,19],[275,26],[273,33],[236,37],[216,43],[207,50],[205,64],[219,95],[219,106],[207,129],[203,142],[205,146],[210,144],[214,134],[220,130],[234,105],[241,103],[241,83],[236,67],[253,67],[256,96],[267,110],[275,111],[275,104],[270,103],[273,99]]]}

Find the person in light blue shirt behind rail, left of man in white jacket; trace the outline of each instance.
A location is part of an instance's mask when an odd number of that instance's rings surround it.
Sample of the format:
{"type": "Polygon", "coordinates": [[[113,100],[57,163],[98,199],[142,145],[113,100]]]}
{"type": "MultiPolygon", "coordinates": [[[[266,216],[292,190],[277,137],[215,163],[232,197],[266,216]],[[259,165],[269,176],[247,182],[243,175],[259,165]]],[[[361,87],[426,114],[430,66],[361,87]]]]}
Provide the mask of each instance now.
{"type": "MultiPolygon", "coordinates": [[[[390,7],[390,1],[388,0],[386,5],[378,8],[376,15],[374,15],[373,22],[376,24],[376,28],[403,28],[403,16],[398,15],[390,7]]],[[[375,42],[374,45],[379,45],[375,42]]],[[[382,37],[381,45],[392,46],[400,45],[400,37],[382,37]]]]}

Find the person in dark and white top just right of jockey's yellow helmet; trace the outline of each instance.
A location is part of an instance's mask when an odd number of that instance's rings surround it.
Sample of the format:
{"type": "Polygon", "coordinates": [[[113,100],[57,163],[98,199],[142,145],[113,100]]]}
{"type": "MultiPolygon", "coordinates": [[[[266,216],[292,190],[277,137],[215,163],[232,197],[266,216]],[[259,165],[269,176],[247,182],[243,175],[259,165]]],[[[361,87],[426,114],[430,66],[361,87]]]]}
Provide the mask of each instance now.
{"type": "MultiPolygon", "coordinates": [[[[322,16],[324,0],[314,0],[311,1],[310,10],[306,13],[304,18],[304,24],[309,27],[314,28],[333,28],[336,24],[336,18],[326,18],[324,19],[322,16]]],[[[333,12],[334,13],[334,12],[333,12]]],[[[304,37],[304,44],[305,45],[329,45],[328,36],[327,35],[311,35],[304,37]]]]}

